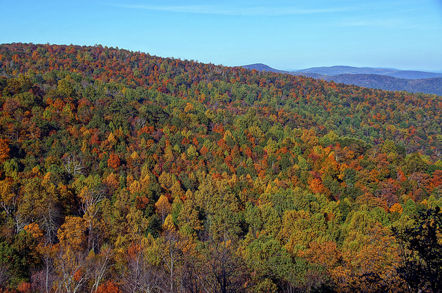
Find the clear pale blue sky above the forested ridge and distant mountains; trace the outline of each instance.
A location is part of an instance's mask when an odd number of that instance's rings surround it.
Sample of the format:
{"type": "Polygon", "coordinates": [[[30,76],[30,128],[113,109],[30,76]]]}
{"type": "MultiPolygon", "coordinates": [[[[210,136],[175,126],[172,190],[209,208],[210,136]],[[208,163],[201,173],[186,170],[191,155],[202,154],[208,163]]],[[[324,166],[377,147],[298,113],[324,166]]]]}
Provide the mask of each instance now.
{"type": "Polygon", "coordinates": [[[97,43],[282,70],[332,65],[442,70],[442,0],[0,0],[0,5],[0,43],[97,43]]]}

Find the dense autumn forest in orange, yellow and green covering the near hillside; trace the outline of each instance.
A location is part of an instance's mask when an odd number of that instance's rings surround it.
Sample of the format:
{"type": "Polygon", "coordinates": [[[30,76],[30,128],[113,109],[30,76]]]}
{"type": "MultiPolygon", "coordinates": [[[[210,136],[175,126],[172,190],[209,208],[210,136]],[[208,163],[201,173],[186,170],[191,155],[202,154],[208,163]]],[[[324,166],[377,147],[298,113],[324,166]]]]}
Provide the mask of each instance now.
{"type": "Polygon", "coordinates": [[[442,97],[0,45],[0,292],[441,292],[442,97]]]}

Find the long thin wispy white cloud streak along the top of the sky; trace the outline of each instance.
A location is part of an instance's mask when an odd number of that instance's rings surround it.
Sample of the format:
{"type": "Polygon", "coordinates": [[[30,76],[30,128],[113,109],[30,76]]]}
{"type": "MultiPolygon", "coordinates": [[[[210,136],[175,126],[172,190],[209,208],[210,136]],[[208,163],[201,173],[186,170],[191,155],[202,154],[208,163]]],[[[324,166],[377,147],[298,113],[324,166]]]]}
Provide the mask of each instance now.
{"type": "Polygon", "coordinates": [[[250,8],[244,7],[230,7],[230,6],[214,6],[214,5],[199,5],[199,6],[143,6],[143,5],[127,5],[114,4],[122,8],[143,9],[143,10],[157,10],[166,12],[182,12],[195,14],[219,14],[219,15],[233,15],[233,16],[282,16],[282,15],[296,15],[296,14],[320,14],[330,12],[345,12],[352,10],[352,8],[293,8],[293,7],[279,7],[271,8],[265,6],[256,6],[250,8]]]}

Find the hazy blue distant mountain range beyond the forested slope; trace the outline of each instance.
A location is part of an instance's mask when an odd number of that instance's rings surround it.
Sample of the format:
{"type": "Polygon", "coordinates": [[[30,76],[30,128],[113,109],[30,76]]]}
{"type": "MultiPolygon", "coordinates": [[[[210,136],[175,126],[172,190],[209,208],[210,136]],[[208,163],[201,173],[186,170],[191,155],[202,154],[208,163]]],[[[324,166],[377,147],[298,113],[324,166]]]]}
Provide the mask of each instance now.
{"type": "Polygon", "coordinates": [[[271,68],[262,63],[244,65],[243,68],[259,71],[305,75],[314,79],[359,85],[364,88],[382,90],[405,90],[442,96],[442,73],[394,68],[358,68],[351,66],[331,66],[284,71],[271,68]]]}

